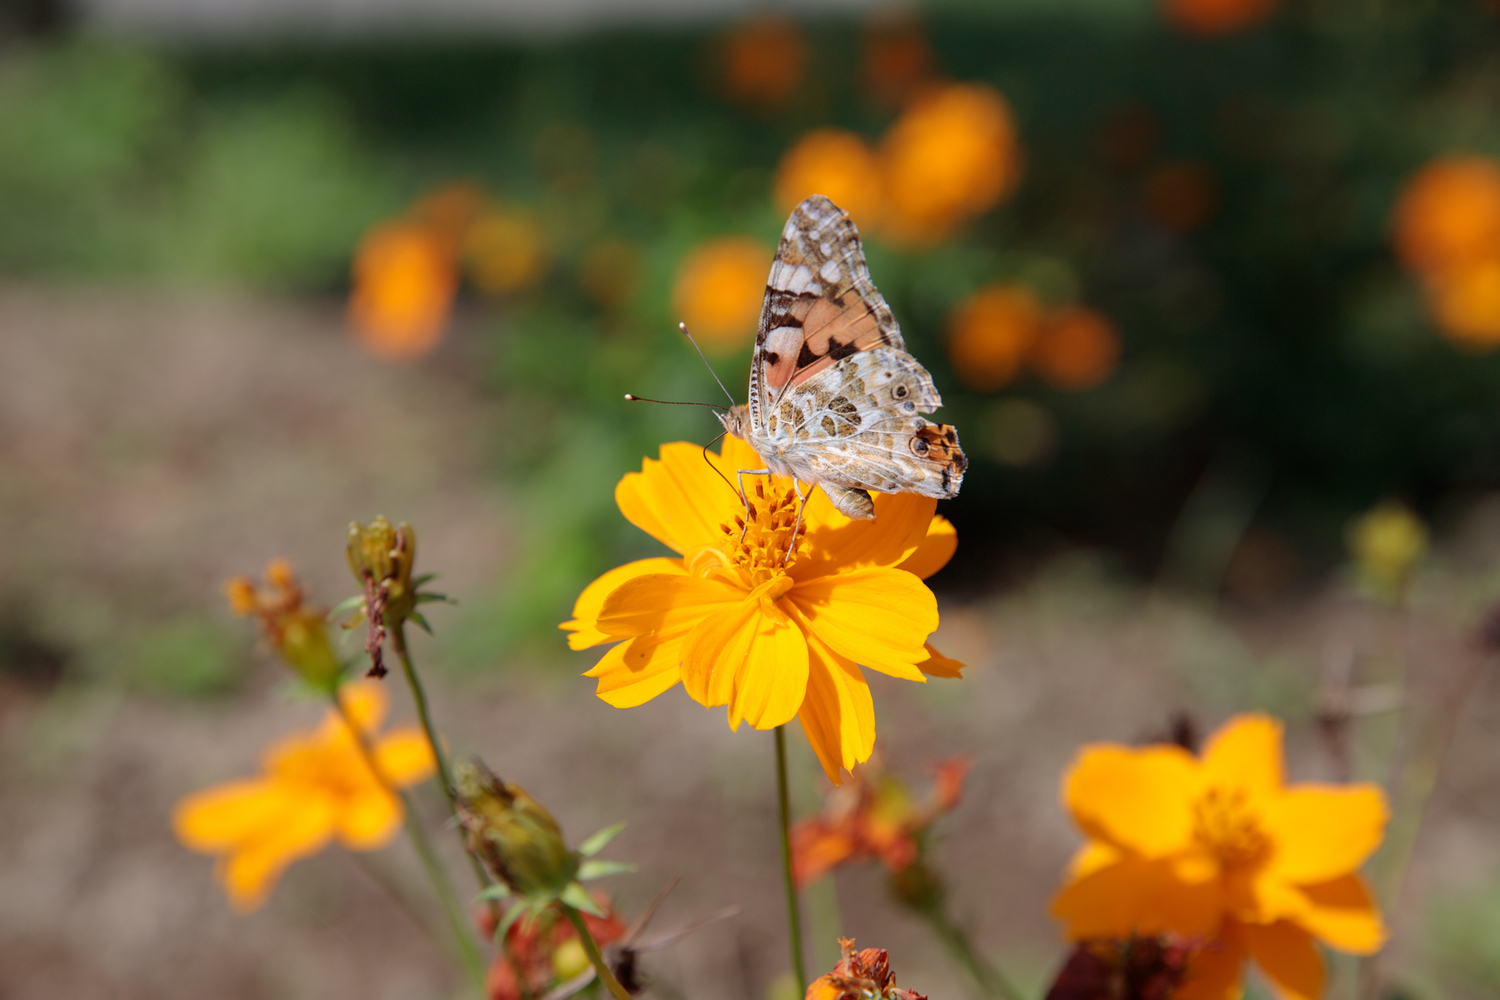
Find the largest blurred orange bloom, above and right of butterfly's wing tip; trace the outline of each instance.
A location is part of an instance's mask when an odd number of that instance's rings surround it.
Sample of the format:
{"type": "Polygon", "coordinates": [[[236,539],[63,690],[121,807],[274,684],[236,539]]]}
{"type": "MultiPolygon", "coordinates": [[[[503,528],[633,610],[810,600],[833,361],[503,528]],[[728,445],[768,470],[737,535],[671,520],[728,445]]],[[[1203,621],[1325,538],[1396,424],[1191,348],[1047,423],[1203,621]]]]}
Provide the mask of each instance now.
{"type": "Polygon", "coordinates": [[[918,96],[885,133],[882,154],[890,234],[918,244],[988,211],[1022,171],[1011,106],[984,84],[918,96]]]}

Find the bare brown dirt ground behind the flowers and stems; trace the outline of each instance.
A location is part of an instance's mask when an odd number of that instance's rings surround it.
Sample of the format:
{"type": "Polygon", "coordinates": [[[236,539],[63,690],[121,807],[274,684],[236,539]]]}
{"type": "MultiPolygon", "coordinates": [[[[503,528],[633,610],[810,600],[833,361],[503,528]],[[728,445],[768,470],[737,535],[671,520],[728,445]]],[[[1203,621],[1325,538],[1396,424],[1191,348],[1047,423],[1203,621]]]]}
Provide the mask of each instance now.
{"type": "MultiPolygon", "coordinates": [[[[0,289],[0,1000],[458,996],[442,955],[351,856],[298,862],[264,909],[236,916],[212,861],[171,837],[174,801],[250,772],[315,706],[288,699],[262,658],[232,696],[182,697],[122,678],[111,651],[135,618],[162,615],[219,622],[249,648],[222,579],[291,555],[336,600],[346,523],[375,513],[418,525],[420,561],[450,592],[492,588],[518,525],[484,468],[496,409],[464,340],[460,324],[438,357],[388,369],[346,340],[334,304],[0,289]]],[[[1077,838],[1058,781],[1080,744],[1160,736],[1174,712],[1208,727],[1266,708],[1288,720],[1290,774],[1328,778],[1336,763],[1312,721],[1328,664],[1353,657],[1378,679],[1406,649],[1412,700],[1440,703],[1478,655],[1467,636],[1497,540],[1500,522],[1476,505],[1404,630],[1336,580],[1215,609],[1113,580],[1088,553],[1012,592],[946,603],[936,643],[968,676],[874,678],[874,691],[885,759],[918,790],[939,757],[974,757],[938,843],[956,912],[1018,981],[1040,982],[1060,954],[1047,900],[1077,838]]],[[[730,733],[722,709],[681,691],[610,709],[578,676],[590,657],[558,649],[435,670],[453,748],[524,784],[574,840],[626,820],[609,856],[640,865],[614,879],[627,915],[674,874],[662,927],[744,907],[652,957],[662,996],[768,996],[786,961],[770,735],[730,733]]],[[[1365,726],[1356,766],[1378,759],[1380,726],[1365,726]]],[[[808,810],[825,781],[800,733],[792,745],[808,810]]],[[[1500,685],[1479,685],[1450,765],[1394,916],[1394,967],[1413,982],[1434,975],[1434,901],[1500,870],[1500,685]]],[[[436,793],[423,792],[441,828],[436,793]]],[[[417,885],[404,846],[366,864],[417,885]]],[[[904,985],[970,996],[926,928],[884,900],[878,873],[836,885],[842,931],[891,949],[904,985]]],[[[840,928],[813,924],[825,961],[840,928]]]]}

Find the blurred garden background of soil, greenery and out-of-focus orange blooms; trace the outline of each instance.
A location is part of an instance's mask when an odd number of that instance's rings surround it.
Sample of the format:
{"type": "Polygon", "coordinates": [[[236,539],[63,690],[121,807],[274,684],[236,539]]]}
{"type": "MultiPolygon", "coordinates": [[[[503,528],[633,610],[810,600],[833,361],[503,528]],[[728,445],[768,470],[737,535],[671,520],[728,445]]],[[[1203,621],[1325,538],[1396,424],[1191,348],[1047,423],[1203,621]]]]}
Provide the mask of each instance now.
{"type": "MultiPolygon", "coordinates": [[[[770,738],[680,693],[604,706],[555,625],[657,552],[618,478],[718,430],[621,396],[723,402],[681,319],[742,399],[813,192],[866,235],[970,457],[932,580],[934,642],[970,667],[878,684],[880,745],[918,787],[974,756],[938,856],[1041,984],[1078,744],[1268,709],[1293,777],[1326,778],[1348,664],[1406,664],[1437,703],[1479,655],[1497,112],[1488,0],[8,0],[0,997],[452,996],[348,858],[237,918],[168,826],[320,714],[222,580],[288,556],[333,604],[375,514],[459,600],[417,649],[454,750],[574,838],[627,820],[627,913],[674,873],[666,919],[746,907],[660,982],[776,996],[770,738]],[[1396,601],[1350,562],[1378,504],[1431,537],[1396,601]]],[[[1497,724],[1482,687],[1394,906],[1390,996],[1500,996],[1497,724]]],[[[1400,732],[1376,708],[1358,733],[1354,772],[1386,777],[1400,732]]],[[[814,927],[842,912],[903,985],[964,996],[878,873],[819,892],[814,927]]]]}

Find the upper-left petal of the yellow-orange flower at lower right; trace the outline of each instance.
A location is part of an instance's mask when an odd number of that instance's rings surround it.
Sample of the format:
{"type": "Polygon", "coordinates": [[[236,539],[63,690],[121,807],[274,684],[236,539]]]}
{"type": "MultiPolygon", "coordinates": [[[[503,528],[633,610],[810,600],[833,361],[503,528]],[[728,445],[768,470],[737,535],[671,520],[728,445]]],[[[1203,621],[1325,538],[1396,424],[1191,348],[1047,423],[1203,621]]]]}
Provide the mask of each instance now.
{"type": "Polygon", "coordinates": [[[1161,858],[1192,841],[1197,781],[1180,747],[1092,744],[1064,777],[1062,798],[1089,837],[1161,858]]]}

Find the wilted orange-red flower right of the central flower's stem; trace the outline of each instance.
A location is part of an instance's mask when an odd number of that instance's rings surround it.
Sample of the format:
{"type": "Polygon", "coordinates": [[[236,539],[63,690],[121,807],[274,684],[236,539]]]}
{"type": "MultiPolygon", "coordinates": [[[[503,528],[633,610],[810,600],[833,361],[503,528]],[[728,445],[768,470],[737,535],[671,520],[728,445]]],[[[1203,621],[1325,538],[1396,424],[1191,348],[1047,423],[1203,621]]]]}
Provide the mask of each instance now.
{"type": "Polygon", "coordinates": [[[916,861],[920,837],[933,820],[958,805],[969,760],[938,765],[927,802],[916,804],[906,783],[878,766],[862,765],[854,780],[828,796],[820,816],[792,828],[792,870],[796,885],[818,882],[842,864],[879,859],[892,873],[916,861]]]}

